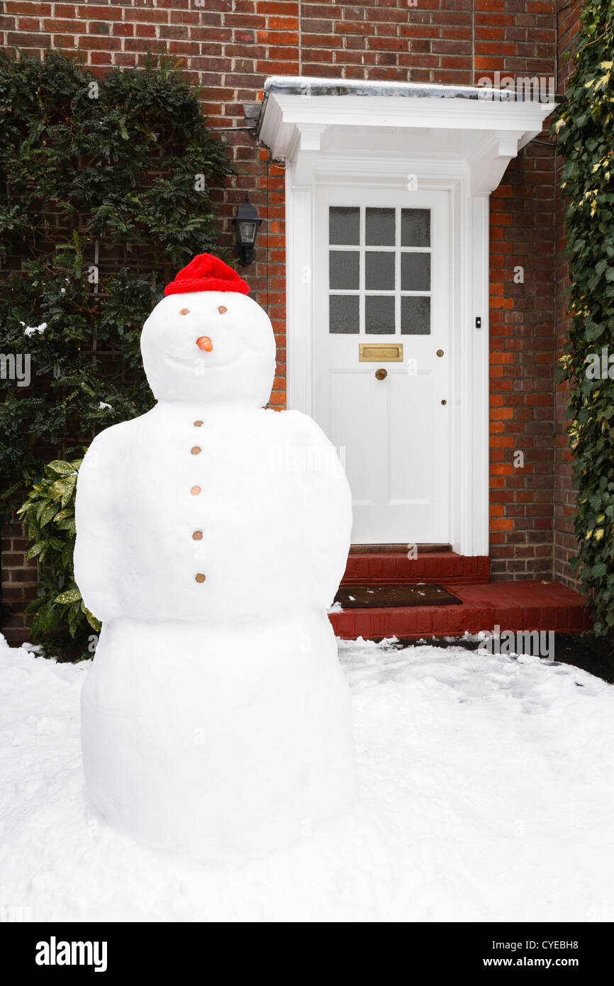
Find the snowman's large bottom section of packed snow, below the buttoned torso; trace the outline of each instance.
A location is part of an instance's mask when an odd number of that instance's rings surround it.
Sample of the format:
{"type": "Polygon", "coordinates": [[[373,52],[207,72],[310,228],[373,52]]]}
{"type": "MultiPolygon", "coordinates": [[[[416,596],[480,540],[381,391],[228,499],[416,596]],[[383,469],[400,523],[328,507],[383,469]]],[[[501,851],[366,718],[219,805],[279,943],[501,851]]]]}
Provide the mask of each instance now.
{"type": "Polygon", "coordinates": [[[90,808],[206,863],[281,849],[350,806],[350,700],[325,613],[232,629],[114,620],[83,689],[90,808]]]}

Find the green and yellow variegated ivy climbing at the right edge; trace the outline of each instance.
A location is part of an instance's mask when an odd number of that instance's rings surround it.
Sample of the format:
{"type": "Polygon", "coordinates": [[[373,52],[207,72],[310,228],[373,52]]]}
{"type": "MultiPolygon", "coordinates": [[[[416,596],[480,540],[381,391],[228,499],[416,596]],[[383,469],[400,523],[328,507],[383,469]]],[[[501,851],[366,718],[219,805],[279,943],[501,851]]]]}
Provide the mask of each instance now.
{"type": "Polygon", "coordinates": [[[588,0],[580,17],[567,100],[554,124],[566,159],[571,280],[560,377],[570,384],[578,490],[574,564],[595,634],[614,636],[614,0],[588,0]]]}

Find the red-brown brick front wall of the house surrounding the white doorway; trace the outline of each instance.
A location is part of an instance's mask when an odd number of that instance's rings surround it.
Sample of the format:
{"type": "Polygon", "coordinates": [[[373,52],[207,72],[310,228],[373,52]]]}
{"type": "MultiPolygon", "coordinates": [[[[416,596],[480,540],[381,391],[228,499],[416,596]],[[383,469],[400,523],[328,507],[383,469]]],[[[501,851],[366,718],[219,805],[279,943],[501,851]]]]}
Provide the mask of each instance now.
{"type": "MultiPolygon", "coordinates": [[[[189,77],[204,89],[204,108],[211,124],[225,133],[239,171],[219,196],[223,241],[232,242],[230,219],[245,189],[267,220],[248,277],[275,326],[278,373],[271,402],[283,406],[284,175],[266,149],[239,129],[242,105],[258,102],[271,74],[445,84],[473,83],[497,70],[550,76],[557,54],[555,8],[555,0],[418,0],[416,7],[407,0],[205,0],[204,8],[194,0],[6,0],[0,41],[35,54],[47,45],[78,50],[100,75],[114,65],[142,65],[148,50],[184,59],[189,77]]],[[[563,23],[564,12],[561,18],[563,23]]],[[[552,153],[532,144],[512,163],[492,200],[495,578],[552,574],[552,153]],[[512,282],[515,264],[524,266],[523,285],[512,282]],[[516,450],[524,453],[523,469],[513,467],[516,450]]],[[[7,589],[17,602],[16,593],[32,592],[18,562],[21,541],[8,539],[4,549],[7,589]],[[12,565],[17,566],[13,571],[12,565]]]]}

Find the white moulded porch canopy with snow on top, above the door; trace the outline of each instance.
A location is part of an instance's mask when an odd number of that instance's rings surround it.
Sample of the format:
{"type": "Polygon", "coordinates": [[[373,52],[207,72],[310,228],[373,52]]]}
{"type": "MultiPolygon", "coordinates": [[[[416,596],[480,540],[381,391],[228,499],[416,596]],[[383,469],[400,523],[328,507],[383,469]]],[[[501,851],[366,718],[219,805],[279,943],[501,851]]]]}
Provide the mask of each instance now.
{"type": "Polygon", "coordinates": [[[463,166],[470,193],[487,195],[554,108],[518,95],[477,86],[271,76],[258,135],[274,158],[292,166],[295,184],[309,180],[318,155],[411,150],[440,165],[463,166]]]}

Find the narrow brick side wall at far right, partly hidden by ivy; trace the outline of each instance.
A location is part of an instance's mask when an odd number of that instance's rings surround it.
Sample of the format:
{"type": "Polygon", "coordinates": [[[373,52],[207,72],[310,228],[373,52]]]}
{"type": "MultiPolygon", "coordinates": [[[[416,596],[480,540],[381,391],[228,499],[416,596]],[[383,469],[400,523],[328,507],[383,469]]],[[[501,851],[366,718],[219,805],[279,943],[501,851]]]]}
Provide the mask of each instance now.
{"type": "MultiPolygon", "coordinates": [[[[580,0],[572,0],[562,6],[558,15],[557,64],[559,73],[559,93],[565,93],[567,79],[573,63],[566,59],[567,52],[573,52],[579,25],[580,0]]],[[[556,347],[555,360],[563,352],[568,328],[567,294],[568,267],[563,255],[565,247],[565,201],[559,185],[563,161],[557,158],[557,267],[556,267],[556,347]]],[[[576,554],[577,540],[574,533],[574,514],[576,511],[576,492],[572,487],[572,457],[567,426],[567,385],[558,385],[555,392],[555,448],[554,448],[554,564],[555,579],[565,585],[578,587],[578,582],[570,571],[570,558],[576,554]]]]}

